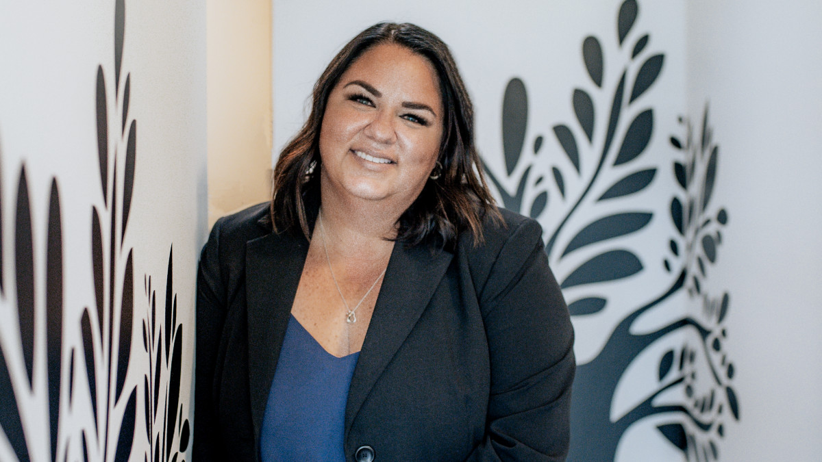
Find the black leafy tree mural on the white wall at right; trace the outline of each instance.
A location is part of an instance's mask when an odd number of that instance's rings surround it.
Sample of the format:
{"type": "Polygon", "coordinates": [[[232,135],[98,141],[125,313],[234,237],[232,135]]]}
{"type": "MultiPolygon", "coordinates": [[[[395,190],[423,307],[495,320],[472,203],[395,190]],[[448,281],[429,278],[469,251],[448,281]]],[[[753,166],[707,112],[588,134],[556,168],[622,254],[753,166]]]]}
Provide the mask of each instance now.
{"type": "MultiPolygon", "coordinates": [[[[533,218],[546,214],[552,217],[551,223],[544,226],[545,252],[566,293],[571,315],[597,316],[611,307],[626,313],[621,315],[598,355],[577,369],[569,460],[614,460],[617,446],[629,427],[665,414],[668,421],[656,427],[658,437],[681,450],[686,459],[707,462],[718,460],[723,422],[728,416],[738,420],[740,415],[739,400],[731,383],[732,363],[726,363],[727,353],[723,350],[727,335],[723,326],[725,315],[719,315],[727,313],[729,298],[725,294],[720,298],[725,303],[715,301],[705,293],[708,286],[704,284],[710,266],[718,261],[723,237],[720,228],[728,222],[726,210],[709,210],[717,181],[718,147],[713,143],[707,110],[696,141],[690,122],[681,118],[686,125],[685,136],[671,136],[669,145],[654,144],[658,138],[654,131],[656,115],[653,104],[647,101],[653,101],[653,86],[665,75],[665,54],[653,50],[649,33],[632,33],[641,22],[639,17],[638,2],[621,3],[616,37],[617,49],[622,49],[626,42],[630,44],[630,48],[624,47],[625,53],[605,56],[603,50],[614,48],[603,47],[595,35],[583,39],[581,58],[588,76],[572,92],[575,120],[552,125],[556,155],[542,146],[541,134],[536,134],[540,142],[534,141],[534,145],[542,150],[525,152],[524,146],[529,143],[519,139],[527,133],[529,119],[524,113],[529,107],[528,94],[522,79],[511,79],[502,110],[502,136],[506,139],[515,133],[517,142],[505,143],[504,172],[492,171],[487,166],[485,170],[503,206],[533,218]],[[508,98],[512,87],[524,98],[516,99],[515,111],[515,100],[508,98]],[[603,101],[609,105],[597,107],[603,101]],[[598,113],[607,117],[594,117],[598,113]],[[509,118],[510,114],[516,117],[509,118]],[[677,153],[670,167],[649,165],[643,160],[652,147],[658,150],[659,146],[670,146],[677,153]],[[520,151],[514,152],[515,148],[520,151]],[[546,177],[554,181],[544,182],[546,177]],[[670,182],[676,191],[665,201],[669,207],[626,208],[630,197],[645,194],[660,179],[670,182]],[[509,189],[503,185],[513,186],[509,189]],[[608,284],[635,278],[648,267],[627,239],[659,220],[669,223],[672,230],[672,235],[660,243],[660,270],[668,275],[669,283],[637,307],[617,307],[617,303],[626,302],[611,300],[608,284]],[[690,300],[701,302],[701,313],[683,310],[685,314],[675,321],[650,331],[641,330],[642,333],[633,328],[645,312],[662,307],[681,291],[690,300]],[[672,344],[672,339],[680,338],[668,336],[674,332],[686,333],[688,343],[672,344]],[[667,348],[659,349],[662,353],[655,374],[658,382],[650,384],[655,390],[639,402],[630,403],[627,409],[615,411],[612,406],[617,384],[634,359],[657,342],[663,342],[667,348]],[[667,390],[681,390],[686,400],[657,400],[667,390]]],[[[542,129],[538,127],[535,132],[542,129]]],[[[655,153],[655,158],[660,157],[655,153]]]]}

